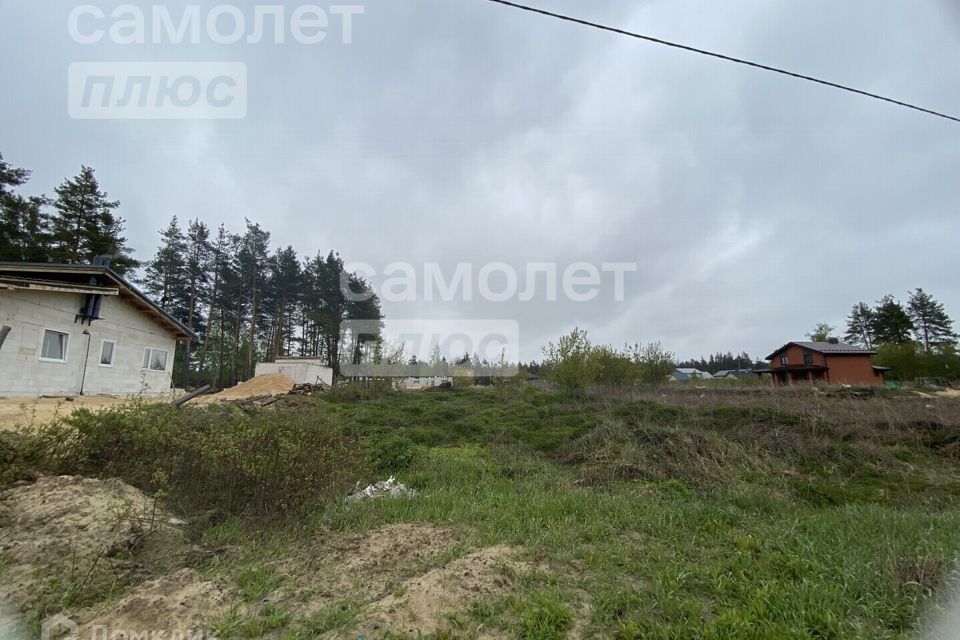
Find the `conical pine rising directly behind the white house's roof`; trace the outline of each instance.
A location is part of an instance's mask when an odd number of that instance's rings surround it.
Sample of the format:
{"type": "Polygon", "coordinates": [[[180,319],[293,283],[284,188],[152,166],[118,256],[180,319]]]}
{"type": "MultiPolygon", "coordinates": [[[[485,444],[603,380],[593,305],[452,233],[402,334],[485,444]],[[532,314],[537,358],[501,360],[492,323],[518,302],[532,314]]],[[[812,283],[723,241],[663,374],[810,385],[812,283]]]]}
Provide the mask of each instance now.
{"type": "Polygon", "coordinates": [[[90,263],[99,255],[111,257],[110,267],[119,274],[138,266],[123,237],[124,220],[114,215],[120,206],[108,200],[93,169],[83,166],[80,173],[56,188],[52,223],[52,258],[70,264],[90,263]]]}

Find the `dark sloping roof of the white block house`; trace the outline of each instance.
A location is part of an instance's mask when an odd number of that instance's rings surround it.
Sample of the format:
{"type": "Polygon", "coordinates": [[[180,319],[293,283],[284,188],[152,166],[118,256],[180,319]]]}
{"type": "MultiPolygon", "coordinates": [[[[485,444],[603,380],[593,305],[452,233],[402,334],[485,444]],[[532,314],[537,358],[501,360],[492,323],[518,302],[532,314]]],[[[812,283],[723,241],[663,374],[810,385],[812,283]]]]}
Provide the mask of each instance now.
{"type": "Polygon", "coordinates": [[[0,288],[118,296],[149,315],[157,324],[166,327],[177,339],[197,339],[197,334],[189,327],[109,267],[0,261],[0,288]],[[95,284],[90,284],[91,277],[97,278],[95,284]]]}

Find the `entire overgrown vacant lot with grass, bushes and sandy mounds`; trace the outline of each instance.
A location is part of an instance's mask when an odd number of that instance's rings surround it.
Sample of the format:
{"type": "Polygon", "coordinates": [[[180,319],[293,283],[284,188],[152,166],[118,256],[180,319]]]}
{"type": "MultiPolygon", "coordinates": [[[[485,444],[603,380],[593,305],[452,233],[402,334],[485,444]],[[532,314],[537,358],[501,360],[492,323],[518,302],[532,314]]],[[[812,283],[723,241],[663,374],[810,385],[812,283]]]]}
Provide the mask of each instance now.
{"type": "Polygon", "coordinates": [[[175,610],[220,638],[902,638],[960,553],[956,398],[346,389],[80,412],[5,446],[28,479],[0,493],[6,598],[34,628],[175,610]],[[4,542],[50,539],[18,515],[37,471],[127,496],[82,527],[110,555],[4,542]],[[391,474],[417,494],[345,499],[391,474]]]}

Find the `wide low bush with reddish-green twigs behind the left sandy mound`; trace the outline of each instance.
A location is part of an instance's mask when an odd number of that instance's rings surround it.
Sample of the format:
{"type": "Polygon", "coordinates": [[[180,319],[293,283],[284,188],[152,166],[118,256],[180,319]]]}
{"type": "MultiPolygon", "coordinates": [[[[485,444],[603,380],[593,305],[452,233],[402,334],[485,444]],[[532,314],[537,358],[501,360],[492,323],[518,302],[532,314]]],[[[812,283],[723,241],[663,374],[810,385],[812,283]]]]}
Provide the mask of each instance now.
{"type": "Polygon", "coordinates": [[[236,407],[140,405],[79,410],[61,472],[117,476],[178,504],[234,514],[296,514],[343,495],[364,475],[356,439],[312,404],[246,413],[236,407]]]}

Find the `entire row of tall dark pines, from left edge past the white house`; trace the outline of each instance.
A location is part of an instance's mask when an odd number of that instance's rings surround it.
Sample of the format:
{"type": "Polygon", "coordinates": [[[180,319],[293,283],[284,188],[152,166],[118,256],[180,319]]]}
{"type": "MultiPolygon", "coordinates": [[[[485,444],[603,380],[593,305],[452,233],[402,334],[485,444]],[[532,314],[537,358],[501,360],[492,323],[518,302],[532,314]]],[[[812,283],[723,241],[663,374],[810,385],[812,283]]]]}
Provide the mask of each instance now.
{"type": "Polygon", "coordinates": [[[201,220],[184,229],[174,216],[141,263],[122,235],[120,203],[93,169],[65,180],[55,199],[17,193],[29,177],[0,155],[0,260],[89,264],[110,256],[111,269],[197,334],[177,347],[177,385],[229,386],[251,377],[257,361],[288,355],[322,359],[339,373],[344,357],[375,359],[383,347],[379,334],[342,329],[346,320],[383,314],[368,283],[346,273],[334,251],[301,257],[292,246],[272,250],[270,232],[249,220],[232,233],[201,220]]]}

